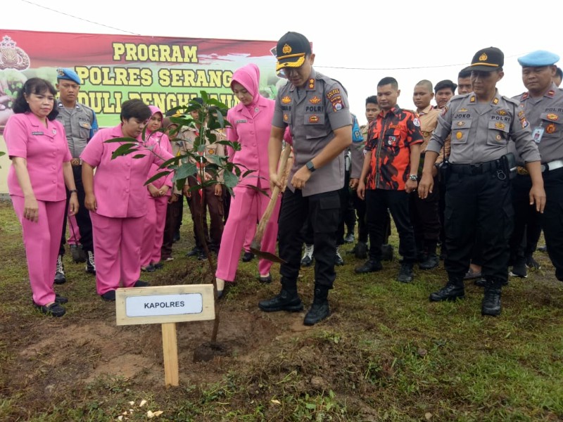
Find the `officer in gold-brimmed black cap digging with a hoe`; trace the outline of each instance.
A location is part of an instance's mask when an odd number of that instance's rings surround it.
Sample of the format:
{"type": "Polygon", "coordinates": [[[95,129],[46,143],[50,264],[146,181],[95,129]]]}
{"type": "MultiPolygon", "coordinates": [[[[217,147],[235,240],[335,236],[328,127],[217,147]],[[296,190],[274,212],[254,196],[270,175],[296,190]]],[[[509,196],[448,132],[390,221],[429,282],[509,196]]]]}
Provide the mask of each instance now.
{"type": "Polygon", "coordinates": [[[352,117],[342,85],[312,68],[315,54],[308,39],[287,32],[277,42],[277,67],[289,83],[279,89],[268,153],[270,184],[280,186],[277,166],[286,127],[293,136],[294,160],[279,213],[281,291],[258,306],[265,312],[303,309],[297,293],[303,222],[312,224],[315,250],[315,298],[303,324],[314,325],[329,316],[327,299],[336,273],[336,229],[339,189],[344,186],[343,151],[352,143],[352,117]]]}

